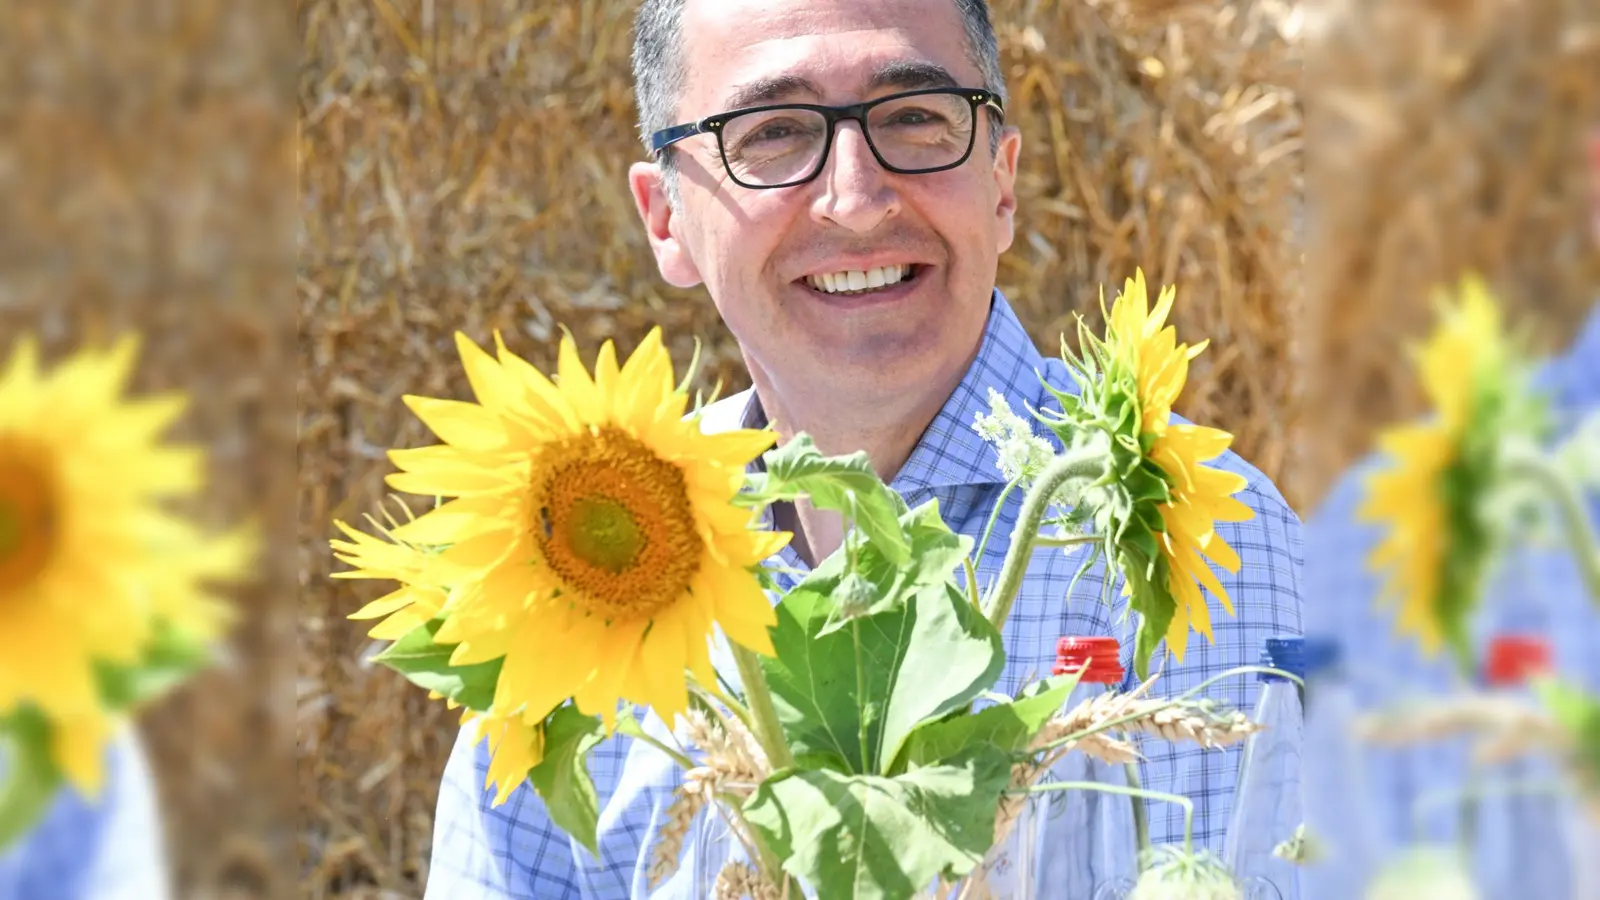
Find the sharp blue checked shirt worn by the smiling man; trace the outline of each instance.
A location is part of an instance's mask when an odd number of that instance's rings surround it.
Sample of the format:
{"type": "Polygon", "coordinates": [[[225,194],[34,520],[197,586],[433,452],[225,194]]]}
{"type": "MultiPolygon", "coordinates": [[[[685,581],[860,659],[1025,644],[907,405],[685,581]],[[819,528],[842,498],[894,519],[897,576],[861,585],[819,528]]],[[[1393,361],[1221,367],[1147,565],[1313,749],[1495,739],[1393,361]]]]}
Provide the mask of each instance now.
{"type": "MultiPolygon", "coordinates": [[[[974,418],[989,412],[989,388],[1005,394],[1016,410],[1024,410],[1024,402],[1035,408],[1059,408],[1040,386],[1038,375],[1058,389],[1074,389],[1066,364],[1038,354],[1011,306],[995,291],[978,357],[890,487],[912,508],[936,498],[946,522],[976,541],[1005,479],[997,468],[995,448],[973,431],[974,418]]],[[[709,407],[704,428],[725,431],[760,428],[763,423],[754,394],[746,391],[709,407]]],[[[1042,437],[1051,437],[1042,426],[1035,428],[1042,437]]],[[[1211,464],[1248,479],[1238,498],[1254,509],[1254,519],[1248,522],[1218,524],[1218,532],[1243,562],[1237,575],[1218,572],[1238,615],[1226,615],[1213,599],[1214,645],[1192,636],[1184,661],[1166,661],[1165,676],[1154,689],[1157,695],[1179,693],[1227,668],[1251,665],[1267,637],[1301,633],[1299,519],[1272,482],[1237,455],[1224,455],[1211,464]]],[[[1010,535],[1019,511],[1021,492],[1013,492],[995,525],[1000,536],[978,560],[984,583],[998,577],[1006,544],[1003,536],[1010,535]]],[[[1078,552],[1083,549],[1078,548],[1078,552]]],[[[1099,564],[1069,596],[1067,588],[1080,560],[1080,556],[1061,551],[1042,549],[1035,554],[1005,626],[1008,665],[997,690],[1014,693],[1026,679],[1048,676],[1056,658],[1056,639],[1066,634],[1118,637],[1123,663],[1131,673],[1134,621],[1123,620],[1126,604],[1120,596],[1122,585],[1112,586],[1114,601],[1106,605],[1101,601],[1106,569],[1099,564]]],[[[806,570],[792,549],[782,552],[781,562],[806,570]]],[[[1128,687],[1133,685],[1130,674],[1128,687]]],[[[1250,711],[1258,682],[1242,676],[1219,682],[1206,693],[1250,711]]],[[[666,737],[659,721],[653,721],[651,727],[666,737]]],[[[1146,786],[1187,794],[1195,804],[1197,842],[1214,850],[1221,850],[1227,826],[1238,749],[1203,751],[1158,741],[1141,748],[1149,759],[1144,765],[1146,786]]],[[[675,879],[654,894],[646,889],[653,836],[664,822],[672,790],[680,783],[677,767],[661,753],[626,737],[597,746],[589,765],[602,804],[598,858],[550,823],[538,794],[526,785],[493,809],[493,794],[483,790],[486,745],[472,741],[470,729],[462,730],[440,785],[427,900],[688,898],[688,870],[694,868],[688,857],[675,879]]],[[[1155,842],[1182,839],[1181,809],[1150,804],[1150,823],[1155,842]]]]}

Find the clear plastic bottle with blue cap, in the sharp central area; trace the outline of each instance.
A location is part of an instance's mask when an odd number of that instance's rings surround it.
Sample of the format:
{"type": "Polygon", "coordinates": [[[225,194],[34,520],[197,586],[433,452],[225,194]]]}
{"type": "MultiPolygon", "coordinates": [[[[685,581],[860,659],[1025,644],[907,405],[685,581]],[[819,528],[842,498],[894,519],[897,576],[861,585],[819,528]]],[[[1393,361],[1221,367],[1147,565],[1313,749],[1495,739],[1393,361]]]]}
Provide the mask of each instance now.
{"type": "MultiPolygon", "coordinates": [[[[1302,637],[1269,637],[1261,650],[1261,665],[1304,681],[1304,649],[1302,637]]],[[[1262,730],[1245,741],[1222,862],[1245,886],[1245,897],[1299,900],[1298,866],[1275,850],[1302,823],[1302,692],[1278,674],[1261,673],[1258,677],[1262,689],[1253,721],[1262,730]]]]}

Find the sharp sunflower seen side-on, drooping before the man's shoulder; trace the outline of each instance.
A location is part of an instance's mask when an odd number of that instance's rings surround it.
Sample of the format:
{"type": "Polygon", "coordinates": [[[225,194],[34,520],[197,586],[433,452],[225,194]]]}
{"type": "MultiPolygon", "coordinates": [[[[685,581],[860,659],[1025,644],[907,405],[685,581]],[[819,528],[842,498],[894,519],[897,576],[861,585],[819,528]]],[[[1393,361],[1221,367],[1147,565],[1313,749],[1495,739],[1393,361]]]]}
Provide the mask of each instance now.
{"type": "Polygon", "coordinates": [[[1096,533],[1106,538],[1104,552],[1123,573],[1123,594],[1141,617],[1134,647],[1139,677],[1147,676],[1162,637],[1178,660],[1190,628],[1213,639],[1202,585],[1234,613],[1208,560],[1238,572],[1238,554],[1216,533],[1216,522],[1253,516],[1232,496],[1245,488],[1245,477],[1203,464],[1221,456],[1232,436],[1170,421],[1189,360],[1210,343],[1178,343],[1178,330],[1166,323],[1174,298],[1168,287],[1152,309],[1144,272],[1136,271],[1106,314],[1106,338],[1091,335],[1080,320],[1083,354],[1074,359],[1062,352],[1080,392],[1051,389],[1066,410],[1053,424],[1069,447],[1085,434],[1110,437],[1110,476],[1085,493],[1074,516],[1094,519],[1096,533]]]}

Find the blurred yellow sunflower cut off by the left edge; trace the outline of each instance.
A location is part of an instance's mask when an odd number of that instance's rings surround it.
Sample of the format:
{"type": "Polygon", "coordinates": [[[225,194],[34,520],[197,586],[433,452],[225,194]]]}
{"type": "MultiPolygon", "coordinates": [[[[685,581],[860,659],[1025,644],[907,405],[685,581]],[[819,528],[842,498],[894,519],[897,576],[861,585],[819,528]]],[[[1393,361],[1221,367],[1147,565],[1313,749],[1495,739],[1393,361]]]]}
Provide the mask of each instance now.
{"type": "Polygon", "coordinates": [[[160,440],[182,397],[122,397],[136,354],[125,338],[43,372],[24,338],[0,370],[0,717],[43,714],[56,767],[90,796],[117,713],[102,666],[138,668],[162,628],[219,636],[205,585],[242,578],[253,543],[165,508],[202,488],[203,458],[160,440]]]}

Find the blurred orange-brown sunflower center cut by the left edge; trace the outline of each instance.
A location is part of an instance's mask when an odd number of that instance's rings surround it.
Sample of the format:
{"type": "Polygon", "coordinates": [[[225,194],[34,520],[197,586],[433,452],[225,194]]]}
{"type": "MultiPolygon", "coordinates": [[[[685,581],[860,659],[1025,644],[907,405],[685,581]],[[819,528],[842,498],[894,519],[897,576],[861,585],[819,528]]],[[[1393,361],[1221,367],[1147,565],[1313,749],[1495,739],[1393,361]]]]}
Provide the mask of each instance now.
{"type": "Polygon", "coordinates": [[[27,586],[56,548],[56,492],[45,455],[0,434],[0,601],[27,586]]]}

